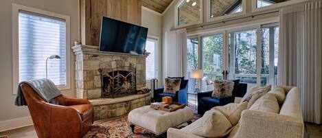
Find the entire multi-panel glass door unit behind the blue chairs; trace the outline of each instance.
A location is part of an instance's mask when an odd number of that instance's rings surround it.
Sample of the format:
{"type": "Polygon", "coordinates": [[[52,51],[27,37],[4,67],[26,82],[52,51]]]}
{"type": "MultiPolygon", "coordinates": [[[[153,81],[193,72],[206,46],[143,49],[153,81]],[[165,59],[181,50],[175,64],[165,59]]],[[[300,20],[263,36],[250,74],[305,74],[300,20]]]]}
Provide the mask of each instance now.
{"type": "Polygon", "coordinates": [[[248,88],[276,84],[278,24],[255,25],[212,34],[199,34],[198,68],[203,69],[202,90],[214,80],[247,83],[248,88]]]}

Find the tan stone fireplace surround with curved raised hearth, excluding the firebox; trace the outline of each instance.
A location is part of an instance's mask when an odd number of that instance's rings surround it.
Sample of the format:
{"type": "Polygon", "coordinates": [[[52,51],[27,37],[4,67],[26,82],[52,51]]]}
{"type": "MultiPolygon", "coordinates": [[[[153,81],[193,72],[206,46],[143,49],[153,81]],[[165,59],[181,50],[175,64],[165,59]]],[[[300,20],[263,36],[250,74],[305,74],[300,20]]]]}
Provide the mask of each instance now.
{"type": "Polygon", "coordinates": [[[125,97],[101,98],[101,80],[98,69],[117,69],[121,66],[135,67],[136,87],[146,87],[145,55],[100,52],[97,46],[76,45],[76,97],[88,99],[94,106],[94,117],[107,119],[126,115],[134,108],[150,104],[150,93],[125,97]]]}

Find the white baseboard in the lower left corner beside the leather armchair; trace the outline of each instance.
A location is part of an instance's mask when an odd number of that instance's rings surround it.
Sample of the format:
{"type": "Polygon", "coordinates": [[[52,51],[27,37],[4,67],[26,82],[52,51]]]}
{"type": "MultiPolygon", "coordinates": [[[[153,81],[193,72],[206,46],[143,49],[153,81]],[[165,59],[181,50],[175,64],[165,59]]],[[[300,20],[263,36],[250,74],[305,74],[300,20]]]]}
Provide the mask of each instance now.
{"type": "Polygon", "coordinates": [[[25,126],[32,126],[34,123],[32,122],[32,117],[20,117],[14,119],[8,119],[0,122],[0,132],[6,130],[12,130],[16,128],[22,128],[25,126]]]}

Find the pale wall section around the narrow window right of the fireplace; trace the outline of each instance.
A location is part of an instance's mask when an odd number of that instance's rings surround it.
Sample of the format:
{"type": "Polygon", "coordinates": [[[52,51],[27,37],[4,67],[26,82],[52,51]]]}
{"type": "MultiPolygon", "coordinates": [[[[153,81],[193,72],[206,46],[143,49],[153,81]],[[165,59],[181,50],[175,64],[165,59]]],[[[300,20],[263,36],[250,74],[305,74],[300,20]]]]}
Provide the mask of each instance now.
{"type": "MultiPolygon", "coordinates": [[[[155,36],[159,38],[159,60],[158,60],[158,67],[159,67],[159,87],[162,86],[162,16],[154,11],[147,10],[146,8],[142,7],[142,15],[141,15],[141,25],[143,27],[148,28],[148,35],[155,36]]],[[[147,83],[150,86],[150,82],[147,83]]]]}

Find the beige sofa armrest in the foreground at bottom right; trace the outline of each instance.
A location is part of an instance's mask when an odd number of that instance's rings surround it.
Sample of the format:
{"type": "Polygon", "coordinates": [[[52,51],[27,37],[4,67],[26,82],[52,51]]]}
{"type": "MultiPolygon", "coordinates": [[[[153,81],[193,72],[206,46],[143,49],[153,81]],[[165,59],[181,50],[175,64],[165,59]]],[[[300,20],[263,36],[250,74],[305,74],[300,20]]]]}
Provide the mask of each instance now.
{"type": "Polygon", "coordinates": [[[240,138],[303,138],[304,124],[288,115],[245,110],[236,135],[240,138]]]}

